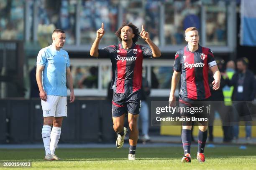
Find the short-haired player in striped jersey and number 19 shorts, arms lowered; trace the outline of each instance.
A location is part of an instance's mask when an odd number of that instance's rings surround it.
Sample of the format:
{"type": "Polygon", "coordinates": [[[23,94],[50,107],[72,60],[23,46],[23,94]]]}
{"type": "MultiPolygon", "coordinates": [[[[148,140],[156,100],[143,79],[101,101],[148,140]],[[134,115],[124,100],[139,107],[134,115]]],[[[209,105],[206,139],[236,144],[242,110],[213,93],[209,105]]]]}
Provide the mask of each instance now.
{"type": "MultiPolygon", "coordinates": [[[[220,87],[220,71],[209,48],[198,44],[199,35],[195,27],[185,30],[185,40],[188,45],[182,50],[177,51],[174,61],[174,73],[172,75],[172,87],[169,97],[169,105],[175,105],[174,92],[181,77],[181,89],[179,93],[179,107],[204,107],[202,115],[209,112],[205,109],[205,101],[210,97],[210,87],[208,85],[208,69],[213,72],[213,89],[220,87]],[[199,101],[199,102],[198,102],[199,101]],[[201,102],[200,102],[201,101],[201,102]]],[[[209,105],[207,108],[210,110],[209,105]]],[[[208,111],[209,111],[208,110],[208,111]]],[[[197,113],[195,113],[196,116],[197,113]]],[[[189,112],[181,112],[182,117],[192,117],[189,112]]],[[[188,120],[188,119],[186,119],[188,120]]],[[[192,120],[192,119],[190,119],[192,120]]],[[[184,149],[183,163],[191,162],[190,144],[191,144],[192,121],[182,122],[182,144],[184,149]]],[[[198,151],[197,160],[205,162],[204,148],[207,139],[207,121],[199,122],[198,133],[198,151]]]]}

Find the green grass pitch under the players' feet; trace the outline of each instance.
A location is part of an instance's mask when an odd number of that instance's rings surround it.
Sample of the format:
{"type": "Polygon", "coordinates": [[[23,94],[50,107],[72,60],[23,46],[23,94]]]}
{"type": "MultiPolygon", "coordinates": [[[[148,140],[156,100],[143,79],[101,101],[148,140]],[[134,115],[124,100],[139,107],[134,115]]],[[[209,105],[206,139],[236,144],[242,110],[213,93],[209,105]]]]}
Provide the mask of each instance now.
{"type": "MultiPolygon", "coordinates": [[[[137,148],[136,160],[128,161],[128,148],[56,149],[63,160],[45,161],[44,149],[1,149],[0,161],[32,161],[32,169],[41,170],[255,170],[256,147],[246,150],[219,146],[205,149],[205,163],[196,160],[192,147],[192,163],[181,163],[181,147],[137,148]]],[[[1,169],[1,168],[0,168],[1,169]]],[[[2,168],[24,169],[24,168],[2,168]]],[[[26,168],[31,169],[31,168],[26,168]]]]}

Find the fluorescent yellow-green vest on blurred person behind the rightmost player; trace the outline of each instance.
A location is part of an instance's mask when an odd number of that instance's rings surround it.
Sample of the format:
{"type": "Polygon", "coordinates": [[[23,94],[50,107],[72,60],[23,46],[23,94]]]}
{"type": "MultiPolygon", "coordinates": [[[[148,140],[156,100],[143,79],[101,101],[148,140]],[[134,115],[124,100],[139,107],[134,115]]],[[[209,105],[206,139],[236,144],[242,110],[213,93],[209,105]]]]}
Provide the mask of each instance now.
{"type": "MultiPolygon", "coordinates": [[[[233,72],[233,71],[227,71],[226,73],[228,75],[229,80],[231,80],[233,75],[235,74],[235,72],[233,72]]],[[[223,78],[225,79],[225,77],[223,77],[223,78]]],[[[223,90],[225,106],[231,106],[232,105],[232,94],[233,94],[234,86],[228,87],[228,85],[226,85],[225,87],[223,87],[222,90],[223,90]]]]}

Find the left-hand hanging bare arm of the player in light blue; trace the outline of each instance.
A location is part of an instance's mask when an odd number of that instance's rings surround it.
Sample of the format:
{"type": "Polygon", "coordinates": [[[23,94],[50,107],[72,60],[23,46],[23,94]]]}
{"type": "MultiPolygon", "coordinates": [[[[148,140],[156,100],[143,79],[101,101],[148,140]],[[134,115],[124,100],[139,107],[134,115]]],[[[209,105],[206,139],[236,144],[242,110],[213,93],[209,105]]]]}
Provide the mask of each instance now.
{"type": "Polygon", "coordinates": [[[43,80],[42,80],[42,72],[44,70],[44,66],[43,65],[36,65],[36,82],[38,85],[38,89],[39,89],[39,96],[42,100],[46,101],[47,99],[47,94],[44,91],[44,87],[43,87],[43,80]]]}

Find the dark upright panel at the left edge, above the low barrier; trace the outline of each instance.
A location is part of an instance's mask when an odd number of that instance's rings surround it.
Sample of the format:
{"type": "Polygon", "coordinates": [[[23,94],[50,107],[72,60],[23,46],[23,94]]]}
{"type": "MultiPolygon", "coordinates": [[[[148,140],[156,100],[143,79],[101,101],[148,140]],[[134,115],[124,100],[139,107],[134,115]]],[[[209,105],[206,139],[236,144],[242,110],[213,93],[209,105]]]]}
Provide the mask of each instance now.
{"type": "Polygon", "coordinates": [[[0,90],[1,97],[23,97],[23,66],[25,62],[23,41],[0,40],[0,90]]]}

